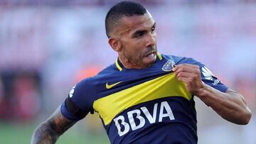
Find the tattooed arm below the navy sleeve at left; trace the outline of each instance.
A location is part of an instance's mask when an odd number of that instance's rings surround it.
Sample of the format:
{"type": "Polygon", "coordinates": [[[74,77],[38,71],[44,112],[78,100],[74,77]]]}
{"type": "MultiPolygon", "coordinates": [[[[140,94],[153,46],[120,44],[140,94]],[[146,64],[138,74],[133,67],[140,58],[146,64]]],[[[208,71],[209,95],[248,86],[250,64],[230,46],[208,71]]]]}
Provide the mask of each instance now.
{"type": "Polygon", "coordinates": [[[55,143],[58,137],[75,123],[76,121],[70,121],[61,114],[59,106],[50,118],[36,128],[31,144],[55,143]]]}

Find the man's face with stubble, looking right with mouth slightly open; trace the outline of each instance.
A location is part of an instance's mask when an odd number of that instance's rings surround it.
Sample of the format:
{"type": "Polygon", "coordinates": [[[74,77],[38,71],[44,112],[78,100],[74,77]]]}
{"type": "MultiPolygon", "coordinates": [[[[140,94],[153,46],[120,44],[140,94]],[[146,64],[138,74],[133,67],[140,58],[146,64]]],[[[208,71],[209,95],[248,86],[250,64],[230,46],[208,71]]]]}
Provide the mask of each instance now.
{"type": "Polygon", "coordinates": [[[124,16],[117,27],[121,59],[139,68],[149,67],[156,61],[156,23],[149,12],[124,16]]]}

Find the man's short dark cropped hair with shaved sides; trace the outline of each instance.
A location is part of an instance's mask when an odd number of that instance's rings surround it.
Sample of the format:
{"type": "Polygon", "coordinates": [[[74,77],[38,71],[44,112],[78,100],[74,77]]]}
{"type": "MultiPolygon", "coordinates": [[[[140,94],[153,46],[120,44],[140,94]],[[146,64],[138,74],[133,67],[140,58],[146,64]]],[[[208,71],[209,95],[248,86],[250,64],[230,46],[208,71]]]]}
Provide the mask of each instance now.
{"type": "Polygon", "coordinates": [[[122,16],[144,15],[144,13],[146,13],[144,6],[133,1],[122,1],[112,6],[105,18],[107,38],[110,38],[110,31],[117,25],[122,16]]]}

